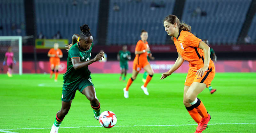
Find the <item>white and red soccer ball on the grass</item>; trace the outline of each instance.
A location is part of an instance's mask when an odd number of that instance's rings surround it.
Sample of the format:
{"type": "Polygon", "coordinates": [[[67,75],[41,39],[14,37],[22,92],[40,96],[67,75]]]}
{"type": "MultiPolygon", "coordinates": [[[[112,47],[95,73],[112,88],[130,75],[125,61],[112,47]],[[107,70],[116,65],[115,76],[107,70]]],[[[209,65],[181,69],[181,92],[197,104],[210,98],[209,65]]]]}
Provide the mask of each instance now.
{"type": "Polygon", "coordinates": [[[104,128],[112,128],[116,125],[116,114],[112,111],[104,111],[100,114],[99,122],[104,128]]]}

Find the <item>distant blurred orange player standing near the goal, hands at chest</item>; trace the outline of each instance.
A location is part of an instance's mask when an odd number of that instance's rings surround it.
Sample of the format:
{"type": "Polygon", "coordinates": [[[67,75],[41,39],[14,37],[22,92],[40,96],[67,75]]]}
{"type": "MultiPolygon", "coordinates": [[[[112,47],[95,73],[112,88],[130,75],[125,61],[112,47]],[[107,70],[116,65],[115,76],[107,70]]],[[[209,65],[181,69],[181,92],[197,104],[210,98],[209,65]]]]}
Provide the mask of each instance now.
{"type": "Polygon", "coordinates": [[[55,79],[54,81],[57,82],[58,79],[58,72],[59,72],[59,65],[60,65],[60,58],[63,57],[61,50],[59,49],[59,44],[55,43],[53,48],[51,48],[48,52],[48,57],[50,57],[50,67],[51,67],[51,74],[50,78],[52,78],[52,74],[54,73],[55,69],[55,79]]]}

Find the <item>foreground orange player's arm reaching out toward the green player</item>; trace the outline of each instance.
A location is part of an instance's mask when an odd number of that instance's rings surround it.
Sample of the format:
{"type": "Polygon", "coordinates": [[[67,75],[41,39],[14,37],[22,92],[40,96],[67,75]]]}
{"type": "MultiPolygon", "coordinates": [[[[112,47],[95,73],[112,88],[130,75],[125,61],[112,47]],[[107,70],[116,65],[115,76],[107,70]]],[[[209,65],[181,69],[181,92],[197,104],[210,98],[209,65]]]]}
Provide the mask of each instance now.
{"type": "Polygon", "coordinates": [[[166,78],[167,76],[171,75],[174,71],[176,71],[180,66],[181,64],[184,62],[184,59],[181,57],[180,53],[178,52],[178,58],[177,60],[175,61],[174,65],[172,66],[172,68],[168,71],[168,72],[165,72],[162,74],[160,80],[166,78]]]}

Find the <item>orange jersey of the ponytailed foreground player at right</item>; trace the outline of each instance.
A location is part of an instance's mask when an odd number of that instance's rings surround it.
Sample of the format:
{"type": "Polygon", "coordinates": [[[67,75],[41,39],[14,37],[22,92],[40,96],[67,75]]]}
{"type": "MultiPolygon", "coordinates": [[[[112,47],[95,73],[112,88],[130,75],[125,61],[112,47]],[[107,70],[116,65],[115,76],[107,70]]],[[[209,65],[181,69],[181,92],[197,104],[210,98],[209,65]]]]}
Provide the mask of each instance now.
{"type": "MultiPolygon", "coordinates": [[[[197,71],[204,66],[204,51],[198,48],[201,40],[187,31],[180,31],[177,39],[173,37],[177,52],[184,60],[189,62],[189,69],[193,71],[197,71]]],[[[214,68],[214,64],[210,58],[209,69],[212,67],[214,68]]]]}

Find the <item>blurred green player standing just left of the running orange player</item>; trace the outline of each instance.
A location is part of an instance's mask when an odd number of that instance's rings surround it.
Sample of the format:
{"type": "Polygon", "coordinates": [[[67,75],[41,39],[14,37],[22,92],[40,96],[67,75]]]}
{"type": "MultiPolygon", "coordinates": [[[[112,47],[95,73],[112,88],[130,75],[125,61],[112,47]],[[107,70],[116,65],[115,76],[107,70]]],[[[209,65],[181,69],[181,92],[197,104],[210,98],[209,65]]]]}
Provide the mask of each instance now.
{"type": "Polygon", "coordinates": [[[127,74],[128,70],[128,60],[131,60],[131,52],[127,50],[127,46],[123,46],[123,50],[120,50],[117,54],[117,60],[120,61],[120,70],[121,70],[121,75],[119,80],[122,80],[122,76],[124,74],[123,81],[125,81],[125,77],[127,74]]]}

